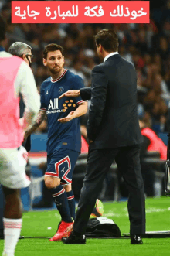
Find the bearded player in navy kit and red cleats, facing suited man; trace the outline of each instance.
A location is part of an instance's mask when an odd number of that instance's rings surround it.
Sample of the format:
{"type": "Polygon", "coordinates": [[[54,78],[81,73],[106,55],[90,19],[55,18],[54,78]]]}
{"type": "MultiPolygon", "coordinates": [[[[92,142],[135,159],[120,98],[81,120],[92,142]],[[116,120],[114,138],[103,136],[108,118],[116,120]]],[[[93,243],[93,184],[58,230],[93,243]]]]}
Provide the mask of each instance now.
{"type": "Polygon", "coordinates": [[[39,118],[26,131],[25,138],[39,127],[47,114],[47,169],[45,184],[55,200],[61,215],[56,235],[50,241],[60,241],[69,234],[75,218],[75,200],[72,191],[72,174],[80,154],[80,116],[87,113],[87,102],[59,96],[67,90],[83,88],[83,80],[64,69],[63,47],[49,44],[43,51],[43,64],[51,77],[41,85],[39,118]],[[73,219],[72,219],[73,218],[73,219]]]}

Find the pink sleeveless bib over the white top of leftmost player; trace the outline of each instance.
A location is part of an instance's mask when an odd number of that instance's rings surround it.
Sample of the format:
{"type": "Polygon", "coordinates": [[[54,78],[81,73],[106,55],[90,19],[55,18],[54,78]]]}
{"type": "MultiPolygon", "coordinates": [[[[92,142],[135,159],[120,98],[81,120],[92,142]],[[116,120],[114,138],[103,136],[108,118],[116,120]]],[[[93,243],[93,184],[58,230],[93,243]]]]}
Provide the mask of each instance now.
{"type": "Polygon", "coordinates": [[[3,52],[0,62],[1,78],[1,144],[0,148],[15,148],[22,142],[19,127],[19,96],[15,92],[15,79],[22,60],[3,52]]]}

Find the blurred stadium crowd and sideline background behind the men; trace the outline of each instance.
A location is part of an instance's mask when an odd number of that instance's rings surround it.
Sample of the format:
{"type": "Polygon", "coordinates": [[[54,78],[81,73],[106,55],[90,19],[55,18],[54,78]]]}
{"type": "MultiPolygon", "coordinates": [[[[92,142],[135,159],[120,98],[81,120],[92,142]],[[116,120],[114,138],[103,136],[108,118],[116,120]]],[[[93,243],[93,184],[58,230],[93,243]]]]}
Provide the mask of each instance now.
{"type": "MultiPolygon", "coordinates": [[[[82,77],[90,86],[93,67],[100,63],[93,36],[104,28],[113,28],[119,38],[119,53],[134,63],[138,75],[138,117],[145,142],[141,145],[141,172],[146,196],[162,196],[168,131],[170,131],[170,0],[151,1],[149,24],[12,24],[11,1],[1,0],[0,13],[8,23],[5,50],[15,41],[32,46],[32,71],[38,90],[49,77],[42,64],[42,51],[49,43],[64,48],[65,68],[82,77]],[[153,145],[154,144],[154,145],[153,145]]],[[[89,101],[90,104],[90,101],[89,101]]],[[[81,118],[82,154],[73,174],[76,200],[87,164],[87,118],[81,118]]],[[[53,207],[43,183],[46,171],[46,120],[32,135],[27,172],[32,179],[28,191],[22,192],[25,210],[53,207]]],[[[100,200],[126,200],[128,191],[115,163],[110,168],[99,196],[100,200]]]]}

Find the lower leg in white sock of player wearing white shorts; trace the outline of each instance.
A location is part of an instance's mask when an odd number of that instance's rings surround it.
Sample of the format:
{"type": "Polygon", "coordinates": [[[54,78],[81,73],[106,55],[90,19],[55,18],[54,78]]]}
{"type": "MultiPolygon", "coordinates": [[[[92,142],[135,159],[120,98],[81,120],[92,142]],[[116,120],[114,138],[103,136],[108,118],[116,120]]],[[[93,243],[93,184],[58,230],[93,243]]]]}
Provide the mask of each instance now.
{"type": "Polygon", "coordinates": [[[8,189],[3,186],[5,195],[4,234],[5,247],[3,255],[14,256],[22,227],[22,202],[19,189],[8,189]]]}

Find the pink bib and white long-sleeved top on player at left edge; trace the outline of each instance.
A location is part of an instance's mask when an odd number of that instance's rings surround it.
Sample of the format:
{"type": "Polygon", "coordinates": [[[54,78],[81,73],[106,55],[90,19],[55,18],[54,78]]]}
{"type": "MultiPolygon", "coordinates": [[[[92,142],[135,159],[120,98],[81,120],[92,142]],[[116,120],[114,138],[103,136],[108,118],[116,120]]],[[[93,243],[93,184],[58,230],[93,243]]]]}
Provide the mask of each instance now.
{"type": "MultiPolygon", "coordinates": [[[[32,71],[21,58],[2,51],[0,60],[0,148],[18,148],[23,139],[19,124],[19,92],[25,97],[26,113],[32,116],[39,111],[39,94],[32,71]]],[[[25,118],[26,122],[28,120],[25,118]]]]}

